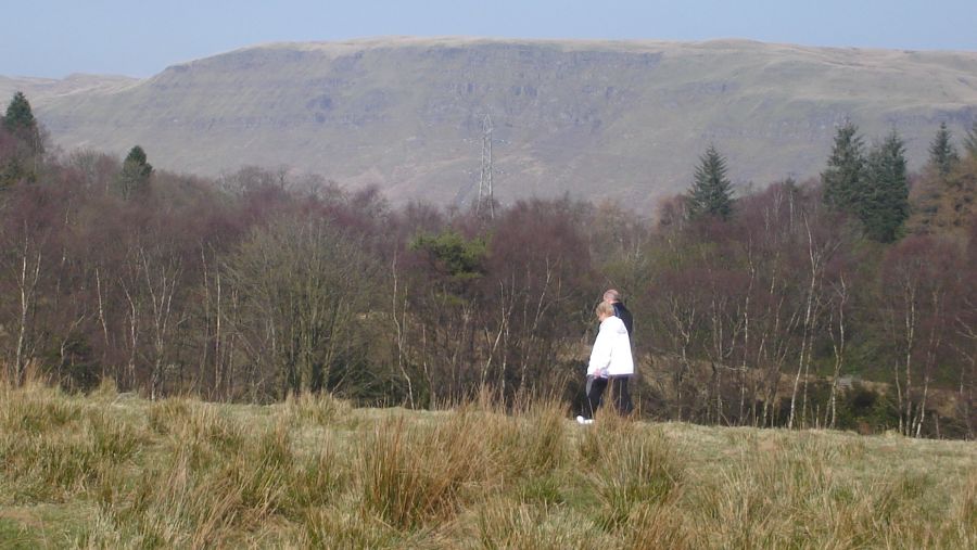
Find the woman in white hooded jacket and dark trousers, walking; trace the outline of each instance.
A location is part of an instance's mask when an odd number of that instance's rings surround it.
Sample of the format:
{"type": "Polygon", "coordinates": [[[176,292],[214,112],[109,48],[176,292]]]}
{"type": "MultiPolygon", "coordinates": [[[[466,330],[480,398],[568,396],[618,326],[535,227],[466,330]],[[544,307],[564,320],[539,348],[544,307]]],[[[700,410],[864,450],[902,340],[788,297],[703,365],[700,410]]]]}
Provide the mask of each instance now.
{"type": "Polygon", "coordinates": [[[601,302],[595,311],[600,321],[591,362],[587,364],[587,410],[576,417],[581,424],[594,422],[594,412],[600,407],[601,396],[607,388],[609,376],[634,374],[634,359],[631,356],[631,338],[624,321],[614,317],[614,307],[601,302]]]}

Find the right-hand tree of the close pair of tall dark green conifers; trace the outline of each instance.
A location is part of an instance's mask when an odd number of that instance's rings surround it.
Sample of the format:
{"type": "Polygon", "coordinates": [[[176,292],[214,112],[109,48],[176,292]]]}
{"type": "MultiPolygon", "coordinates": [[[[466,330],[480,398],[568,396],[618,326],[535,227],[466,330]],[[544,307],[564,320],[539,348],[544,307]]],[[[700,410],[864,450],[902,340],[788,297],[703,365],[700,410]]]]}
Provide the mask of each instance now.
{"type": "Polygon", "coordinates": [[[909,175],[905,143],[896,130],[868,153],[859,218],[870,239],[897,240],[909,218],[909,175]]]}

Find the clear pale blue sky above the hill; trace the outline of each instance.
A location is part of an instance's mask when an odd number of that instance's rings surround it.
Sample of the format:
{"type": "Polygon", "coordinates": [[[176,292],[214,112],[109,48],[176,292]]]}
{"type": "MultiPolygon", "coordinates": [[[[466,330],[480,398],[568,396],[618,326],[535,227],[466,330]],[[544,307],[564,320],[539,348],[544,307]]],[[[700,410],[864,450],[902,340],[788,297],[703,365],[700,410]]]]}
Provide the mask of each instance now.
{"type": "Polygon", "coordinates": [[[977,51],[977,0],[0,0],[0,75],[45,78],[388,35],[977,51]]]}

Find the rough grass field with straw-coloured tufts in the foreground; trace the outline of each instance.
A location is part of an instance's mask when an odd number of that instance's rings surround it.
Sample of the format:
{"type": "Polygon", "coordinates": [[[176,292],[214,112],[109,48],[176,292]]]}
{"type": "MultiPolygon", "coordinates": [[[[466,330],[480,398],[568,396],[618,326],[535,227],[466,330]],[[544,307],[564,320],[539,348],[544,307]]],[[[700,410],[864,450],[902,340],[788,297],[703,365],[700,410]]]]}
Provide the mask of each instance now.
{"type": "Polygon", "coordinates": [[[977,548],[977,444],[0,387],[0,548],[977,548]]]}

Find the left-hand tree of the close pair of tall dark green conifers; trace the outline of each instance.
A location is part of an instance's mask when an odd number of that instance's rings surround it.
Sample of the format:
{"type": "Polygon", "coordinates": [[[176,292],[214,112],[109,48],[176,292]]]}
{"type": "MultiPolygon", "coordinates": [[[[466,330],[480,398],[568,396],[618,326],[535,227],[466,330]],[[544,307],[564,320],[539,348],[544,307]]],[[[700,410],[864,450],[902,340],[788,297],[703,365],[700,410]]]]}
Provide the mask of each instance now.
{"type": "Polygon", "coordinates": [[[838,128],[827,168],[821,172],[824,202],[833,208],[858,214],[865,170],[865,154],[859,127],[850,120],[838,128]]]}

